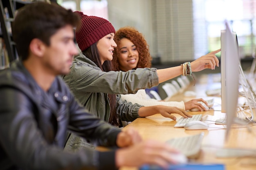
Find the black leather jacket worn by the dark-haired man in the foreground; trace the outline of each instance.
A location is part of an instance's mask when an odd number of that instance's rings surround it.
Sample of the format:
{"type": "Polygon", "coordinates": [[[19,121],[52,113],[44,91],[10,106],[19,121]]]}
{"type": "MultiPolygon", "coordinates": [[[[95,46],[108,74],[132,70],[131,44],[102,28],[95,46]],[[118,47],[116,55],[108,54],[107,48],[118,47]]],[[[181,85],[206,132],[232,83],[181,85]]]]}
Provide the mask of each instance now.
{"type": "Polygon", "coordinates": [[[92,116],[60,77],[43,91],[21,62],[0,72],[0,169],[115,169],[115,151],[63,151],[70,130],[94,144],[115,146],[114,126],[92,116]]]}

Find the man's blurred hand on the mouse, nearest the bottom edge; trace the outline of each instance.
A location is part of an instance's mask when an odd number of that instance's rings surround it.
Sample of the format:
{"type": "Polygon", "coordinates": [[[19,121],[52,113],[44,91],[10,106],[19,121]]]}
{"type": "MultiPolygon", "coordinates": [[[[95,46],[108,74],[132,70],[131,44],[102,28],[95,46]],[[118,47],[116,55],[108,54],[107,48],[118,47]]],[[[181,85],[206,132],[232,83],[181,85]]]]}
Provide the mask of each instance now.
{"type": "Polygon", "coordinates": [[[177,150],[168,144],[148,140],[132,145],[127,148],[118,149],[115,155],[116,166],[142,166],[144,164],[154,164],[167,168],[170,163],[176,164],[173,154],[177,150]]]}

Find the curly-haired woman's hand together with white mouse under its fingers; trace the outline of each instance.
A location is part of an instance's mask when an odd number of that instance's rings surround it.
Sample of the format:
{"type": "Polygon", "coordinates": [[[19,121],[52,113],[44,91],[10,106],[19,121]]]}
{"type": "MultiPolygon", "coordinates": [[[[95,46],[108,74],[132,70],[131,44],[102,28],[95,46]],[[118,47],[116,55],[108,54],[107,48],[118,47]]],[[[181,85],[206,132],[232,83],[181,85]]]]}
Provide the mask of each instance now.
{"type": "Polygon", "coordinates": [[[185,102],[185,109],[191,110],[191,111],[207,111],[209,110],[209,107],[212,107],[214,103],[214,99],[204,100],[202,98],[200,99],[193,99],[189,102],[185,102]],[[208,104],[208,106],[207,106],[208,104]]]}

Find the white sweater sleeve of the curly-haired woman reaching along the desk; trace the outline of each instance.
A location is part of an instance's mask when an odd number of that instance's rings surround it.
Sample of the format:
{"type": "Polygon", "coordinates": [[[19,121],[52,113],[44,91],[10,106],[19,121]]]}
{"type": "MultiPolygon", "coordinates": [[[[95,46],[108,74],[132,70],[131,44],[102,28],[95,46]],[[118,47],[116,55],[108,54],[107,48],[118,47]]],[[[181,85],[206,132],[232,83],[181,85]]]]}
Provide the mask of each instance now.
{"type": "Polygon", "coordinates": [[[184,102],[164,102],[164,101],[158,101],[155,99],[147,99],[146,98],[146,92],[144,89],[138,90],[136,94],[121,94],[122,100],[127,100],[128,102],[137,103],[139,105],[143,106],[155,106],[155,105],[164,105],[164,106],[170,106],[170,107],[178,107],[180,109],[185,109],[184,102]]]}

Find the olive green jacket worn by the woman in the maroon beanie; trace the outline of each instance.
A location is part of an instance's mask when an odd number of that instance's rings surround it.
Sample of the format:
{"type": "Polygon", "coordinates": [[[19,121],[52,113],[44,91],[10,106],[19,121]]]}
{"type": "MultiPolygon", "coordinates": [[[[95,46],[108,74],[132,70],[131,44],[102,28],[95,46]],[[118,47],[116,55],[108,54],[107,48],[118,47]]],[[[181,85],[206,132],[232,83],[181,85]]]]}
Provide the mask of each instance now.
{"type": "MultiPolygon", "coordinates": [[[[82,53],[77,56],[64,77],[76,99],[95,116],[108,122],[110,104],[108,94],[135,94],[138,89],[158,85],[156,68],[138,68],[128,72],[103,72],[82,53]]],[[[117,95],[117,114],[123,121],[133,121],[139,117],[142,105],[121,100],[117,95]]]]}

